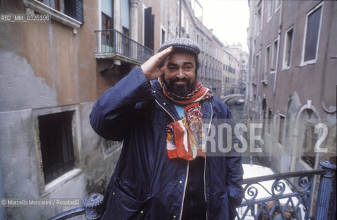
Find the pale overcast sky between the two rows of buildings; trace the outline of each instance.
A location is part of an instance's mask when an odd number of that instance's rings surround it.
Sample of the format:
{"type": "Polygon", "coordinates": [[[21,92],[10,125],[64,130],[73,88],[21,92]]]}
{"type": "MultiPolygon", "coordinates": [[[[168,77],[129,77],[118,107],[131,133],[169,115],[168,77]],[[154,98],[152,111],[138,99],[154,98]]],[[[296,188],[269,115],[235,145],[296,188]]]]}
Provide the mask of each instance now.
{"type": "Polygon", "coordinates": [[[203,6],[203,24],[213,29],[220,41],[229,45],[240,42],[248,52],[248,0],[198,0],[203,6]]]}

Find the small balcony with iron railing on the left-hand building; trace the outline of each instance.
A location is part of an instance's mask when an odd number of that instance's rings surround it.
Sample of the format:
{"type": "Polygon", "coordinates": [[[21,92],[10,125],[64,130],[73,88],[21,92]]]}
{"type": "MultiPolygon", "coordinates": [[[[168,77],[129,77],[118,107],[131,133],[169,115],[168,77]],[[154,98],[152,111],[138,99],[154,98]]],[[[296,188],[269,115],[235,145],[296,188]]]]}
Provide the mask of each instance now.
{"type": "Polygon", "coordinates": [[[153,51],[116,30],[95,30],[95,58],[112,58],[141,65],[153,55],[153,51]]]}

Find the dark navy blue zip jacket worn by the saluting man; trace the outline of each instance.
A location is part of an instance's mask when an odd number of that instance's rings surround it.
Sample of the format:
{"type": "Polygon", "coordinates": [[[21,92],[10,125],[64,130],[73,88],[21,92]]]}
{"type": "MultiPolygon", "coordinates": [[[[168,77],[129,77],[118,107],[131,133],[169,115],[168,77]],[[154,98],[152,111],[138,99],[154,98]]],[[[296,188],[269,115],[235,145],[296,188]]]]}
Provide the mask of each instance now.
{"type": "MultiPolygon", "coordinates": [[[[232,118],[217,98],[202,107],[204,117],[212,120],[232,118]]],[[[96,102],[90,114],[94,131],[108,140],[124,140],[105,192],[103,219],[180,219],[189,162],[167,157],[165,126],[175,118],[158,81],[150,85],[141,67],[96,102]]],[[[206,157],[207,219],[234,219],[243,196],[242,176],[238,153],[206,157]]]]}

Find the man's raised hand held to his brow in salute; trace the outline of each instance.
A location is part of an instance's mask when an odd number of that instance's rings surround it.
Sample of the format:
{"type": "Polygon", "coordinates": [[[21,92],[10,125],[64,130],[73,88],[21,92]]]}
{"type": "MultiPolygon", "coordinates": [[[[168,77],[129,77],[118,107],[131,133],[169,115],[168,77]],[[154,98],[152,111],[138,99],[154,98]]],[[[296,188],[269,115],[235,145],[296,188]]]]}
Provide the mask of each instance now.
{"type": "Polygon", "coordinates": [[[143,65],[141,65],[141,69],[145,74],[147,80],[154,80],[161,76],[164,73],[166,67],[163,65],[160,69],[158,68],[159,64],[172,52],[173,47],[168,47],[167,49],[159,52],[158,54],[154,54],[148,59],[143,65]]]}

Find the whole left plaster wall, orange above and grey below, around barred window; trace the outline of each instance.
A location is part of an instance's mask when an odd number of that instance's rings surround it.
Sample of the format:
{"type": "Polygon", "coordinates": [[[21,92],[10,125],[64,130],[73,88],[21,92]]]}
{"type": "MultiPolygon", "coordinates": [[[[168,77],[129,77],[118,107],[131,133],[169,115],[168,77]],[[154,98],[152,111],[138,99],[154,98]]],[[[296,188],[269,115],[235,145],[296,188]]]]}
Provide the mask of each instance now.
{"type": "MultiPolygon", "coordinates": [[[[89,115],[99,76],[94,49],[98,1],[84,1],[84,23],[0,24],[0,163],[6,198],[79,198],[103,193],[121,148],[105,151],[89,115]],[[75,168],[43,180],[37,117],[75,111],[72,121],[75,168]]],[[[1,13],[25,13],[19,0],[1,1],[1,13]]],[[[107,86],[108,87],[108,86],[107,86]]],[[[9,219],[48,219],[70,206],[7,207],[9,219]]]]}

